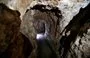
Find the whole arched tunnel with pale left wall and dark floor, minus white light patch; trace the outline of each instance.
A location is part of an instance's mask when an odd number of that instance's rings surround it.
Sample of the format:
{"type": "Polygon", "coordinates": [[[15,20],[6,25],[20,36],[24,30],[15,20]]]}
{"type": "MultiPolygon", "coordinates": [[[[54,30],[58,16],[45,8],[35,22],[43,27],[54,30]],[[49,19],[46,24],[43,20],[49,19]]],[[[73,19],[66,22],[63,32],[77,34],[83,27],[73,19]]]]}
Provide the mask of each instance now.
{"type": "Polygon", "coordinates": [[[60,10],[50,5],[36,4],[26,11],[21,30],[27,37],[32,38],[33,45],[37,45],[36,52],[38,58],[57,58],[57,42],[60,35],[59,24],[61,18],[60,10]],[[41,40],[34,38],[38,33],[44,33],[47,37],[41,40]]]}

